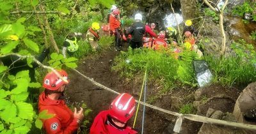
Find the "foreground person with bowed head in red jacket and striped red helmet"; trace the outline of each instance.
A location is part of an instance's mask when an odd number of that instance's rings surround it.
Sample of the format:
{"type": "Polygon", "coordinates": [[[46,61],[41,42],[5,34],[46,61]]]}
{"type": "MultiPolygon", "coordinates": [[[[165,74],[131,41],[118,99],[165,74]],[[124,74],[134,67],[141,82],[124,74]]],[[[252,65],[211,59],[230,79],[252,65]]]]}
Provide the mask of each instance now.
{"type": "Polygon", "coordinates": [[[127,93],[118,95],[109,110],[100,112],[94,119],[90,134],[134,134],[138,133],[127,126],[135,111],[135,100],[127,93]]]}

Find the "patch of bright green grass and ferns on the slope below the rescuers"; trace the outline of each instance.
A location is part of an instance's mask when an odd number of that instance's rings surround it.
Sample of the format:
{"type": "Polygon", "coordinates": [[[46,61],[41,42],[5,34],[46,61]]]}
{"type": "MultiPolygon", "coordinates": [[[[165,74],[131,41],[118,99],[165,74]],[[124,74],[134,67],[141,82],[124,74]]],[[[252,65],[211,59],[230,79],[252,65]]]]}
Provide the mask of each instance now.
{"type": "Polygon", "coordinates": [[[182,60],[178,61],[166,52],[129,48],[128,52],[121,52],[120,56],[116,57],[116,64],[112,69],[120,72],[123,77],[132,78],[138,73],[142,74],[147,68],[148,81],[157,82],[163,87],[163,92],[168,92],[177,84],[195,85],[195,76],[191,73],[191,59],[194,59],[195,55],[189,53],[181,54],[182,60]]]}

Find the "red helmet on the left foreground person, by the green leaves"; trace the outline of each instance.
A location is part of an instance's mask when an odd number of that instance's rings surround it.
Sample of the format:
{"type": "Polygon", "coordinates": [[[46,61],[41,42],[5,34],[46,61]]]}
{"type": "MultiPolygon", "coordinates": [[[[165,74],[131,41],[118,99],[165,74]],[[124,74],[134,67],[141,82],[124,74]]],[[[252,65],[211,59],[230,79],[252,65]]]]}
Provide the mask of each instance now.
{"type": "MultiPolygon", "coordinates": [[[[60,70],[60,71],[58,71],[58,73],[60,73],[60,75],[64,79],[68,80],[68,74],[66,71],[60,70]]],[[[69,82],[69,80],[68,80],[68,82],[69,82]]],[[[43,87],[45,89],[55,91],[55,90],[59,89],[61,86],[63,86],[64,84],[68,84],[68,82],[61,80],[60,77],[58,77],[53,71],[51,71],[50,73],[47,73],[47,75],[44,77],[43,87]]]]}

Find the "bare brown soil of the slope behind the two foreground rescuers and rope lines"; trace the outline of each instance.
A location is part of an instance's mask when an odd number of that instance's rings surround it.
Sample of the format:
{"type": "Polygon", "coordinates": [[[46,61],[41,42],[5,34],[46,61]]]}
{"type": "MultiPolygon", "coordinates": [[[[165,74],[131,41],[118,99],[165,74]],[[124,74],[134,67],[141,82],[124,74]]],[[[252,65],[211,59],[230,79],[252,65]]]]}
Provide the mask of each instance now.
{"type": "MultiPolygon", "coordinates": [[[[142,80],[140,82],[138,81],[138,78],[134,78],[134,80],[127,81],[127,79],[125,78],[118,77],[118,73],[111,71],[111,66],[113,64],[112,61],[118,54],[119,52],[109,49],[108,51],[102,52],[102,54],[99,54],[97,56],[85,57],[84,59],[81,59],[79,61],[79,67],[77,68],[77,70],[79,70],[87,77],[93,78],[96,82],[99,82],[106,87],[114,89],[119,93],[130,93],[136,99],[138,99],[138,93],[140,93],[142,80]]],[[[116,97],[116,94],[110,93],[109,91],[106,91],[104,89],[100,89],[75,71],[70,71],[69,74],[70,84],[67,87],[67,95],[70,97],[71,101],[84,101],[88,105],[88,107],[93,110],[91,114],[86,117],[90,121],[90,123],[92,123],[93,118],[101,110],[108,109],[111,101],[116,97]]],[[[154,95],[156,93],[156,89],[157,87],[148,86],[147,98],[154,95]]],[[[188,101],[193,103],[193,101],[195,100],[194,94],[195,91],[193,90],[173,91],[170,94],[164,94],[159,96],[159,98],[155,99],[152,102],[152,105],[156,105],[157,107],[161,107],[166,110],[179,112],[177,106],[173,105],[172,97],[181,98],[182,103],[186,103],[188,101]]],[[[141,120],[143,113],[142,108],[143,106],[140,107],[135,127],[139,132],[141,131],[141,120]]],[[[134,117],[131,119],[131,125],[133,121],[134,117]]],[[[163,112],[159,112],[157,110],[146,107],[144,132],[173,133],[172,130],[175,121],[176,117],[173,117],[172,115],[168,115],[163,112]]],[[[202,126],[202,123],[185,120],[182,124],[182,127],[185,128],[184,130],[182,130],[182,133],[198,133],[200,126],[202,126]]]]}

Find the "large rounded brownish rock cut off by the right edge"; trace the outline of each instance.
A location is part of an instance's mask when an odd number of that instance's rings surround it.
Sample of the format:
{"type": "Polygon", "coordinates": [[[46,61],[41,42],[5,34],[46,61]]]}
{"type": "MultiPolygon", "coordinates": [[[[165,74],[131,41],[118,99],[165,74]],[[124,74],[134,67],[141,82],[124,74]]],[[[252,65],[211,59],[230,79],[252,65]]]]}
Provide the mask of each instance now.
{"type": "MultiPolygon", "coordinates": [[[[233,115],[239,123],[252,123],[244,120],[243,113],[256,106],[256,82],[249,84],[236,100],[233,115]]],[[[256,124],[256,123],[254,123],[256,124]]]]}

